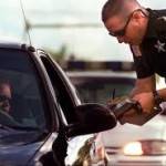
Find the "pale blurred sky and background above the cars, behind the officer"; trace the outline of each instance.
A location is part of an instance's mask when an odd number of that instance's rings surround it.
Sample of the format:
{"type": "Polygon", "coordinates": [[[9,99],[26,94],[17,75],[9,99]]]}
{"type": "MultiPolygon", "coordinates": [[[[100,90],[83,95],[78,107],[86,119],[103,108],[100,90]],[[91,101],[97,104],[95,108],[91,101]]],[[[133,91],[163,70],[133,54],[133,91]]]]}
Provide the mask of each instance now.
{"type": "MultiPolygon", "coordinates": [[[[164,0],[139,0],[153,9],[164,0]]],[[[101,21],[105,0],[20,0],[0,2],[0,39],[29,42],[50,51],[55,59],[132,61],[129,49],[107,35],[101,21]]]]}

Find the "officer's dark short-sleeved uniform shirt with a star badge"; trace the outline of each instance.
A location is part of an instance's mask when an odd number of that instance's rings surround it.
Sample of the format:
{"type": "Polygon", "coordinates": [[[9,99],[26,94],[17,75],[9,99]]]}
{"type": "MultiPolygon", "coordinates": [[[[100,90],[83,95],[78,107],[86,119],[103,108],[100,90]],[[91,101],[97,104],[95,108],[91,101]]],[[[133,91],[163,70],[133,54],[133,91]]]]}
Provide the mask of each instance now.
{"type": "Polygon", "coordinates": [[[151,10],[141,45],[131,45],[138,79],[155,73],[166,77],[166,10],[151,10]]]}

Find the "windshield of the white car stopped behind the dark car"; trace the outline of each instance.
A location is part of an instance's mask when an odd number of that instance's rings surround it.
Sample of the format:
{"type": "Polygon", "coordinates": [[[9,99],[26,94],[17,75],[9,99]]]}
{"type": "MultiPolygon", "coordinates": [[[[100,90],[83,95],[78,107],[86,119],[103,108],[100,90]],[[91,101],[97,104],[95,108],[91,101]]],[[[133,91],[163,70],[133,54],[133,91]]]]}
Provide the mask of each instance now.
{"type": "Polygon", "coordinates": [[[115,90],[115,96],[126,95],[134,87],[131,77],[71,77],[82,102],[106,104],[115,90]]]}

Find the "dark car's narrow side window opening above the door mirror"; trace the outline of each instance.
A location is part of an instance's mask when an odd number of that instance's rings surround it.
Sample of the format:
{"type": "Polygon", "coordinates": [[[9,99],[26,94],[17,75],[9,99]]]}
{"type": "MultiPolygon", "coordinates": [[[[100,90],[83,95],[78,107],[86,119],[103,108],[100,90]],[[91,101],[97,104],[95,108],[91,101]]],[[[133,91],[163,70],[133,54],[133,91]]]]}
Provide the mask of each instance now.
{"type": "Polygon", "coordinates": [[[74,111],[74,106],[77,104],[76,100],[79,98],[72,91],[72,86],[70,85],[71,82],[68,80],[64,73],[60,71],[55,63],[52,63],[52,61],[46,55],[41,55],[41,60],[51,80],[58,100],[58,104],[62,110],[68,123],[75,122],[77,118],[74,111]]]}

